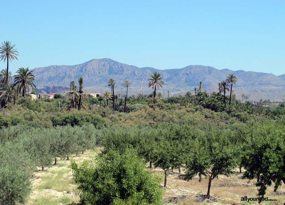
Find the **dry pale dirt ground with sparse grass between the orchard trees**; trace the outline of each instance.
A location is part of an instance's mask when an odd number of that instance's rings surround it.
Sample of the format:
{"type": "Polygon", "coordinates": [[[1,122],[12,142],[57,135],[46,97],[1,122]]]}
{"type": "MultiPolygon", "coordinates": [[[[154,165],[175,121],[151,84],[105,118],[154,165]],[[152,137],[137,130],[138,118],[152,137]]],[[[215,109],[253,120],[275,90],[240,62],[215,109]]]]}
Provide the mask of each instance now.
{"type": "MultiPolygon", "coordinates": [[[[95,151],[86,151],[83,155],[72,156],[78,165],[84,160],[92,160],[99,149],[95,151]]],[[[56,205],[68,204],[72,201],[78,202],[79,197],[76,194],[76,185],[72,179],[72,172],[68,168],[69,161],[58,159],[57,165],[46,167],[44,171],[34,174],[32,179],[33,192],[28,201],[28,205],[56,205]]],[[[151,168],[149,171],[161,177],[161,186],[164,182],[164,172],[160,168],[151,168]]],[[[182,171],[183,172],[183,171],[182,171]]],[[[206,204],[258,204],[257,202],[243,202],[240,198],[247,195],[255,197],[257,188],[256,180],[247,180],[241,178],[242,174],[235,171],[230,177],[219,176],[219,179],[212,181],[211,197],[204,200],[207,192],[208,180],[195,177],[187,182],[179,178],[178,170],[170,173],[167,179],[167,187],[163,198],[164,204],[167,205],[206,205],[206,204]]],[[[162,187],[163,188],[163,187],[162,187]]],[[[285,203],[285,185],[273,192],[273,187],[267,189],[268,199],[277,199],[277,201],[264,201],[264,205],[283,205],[285,203]]]]}

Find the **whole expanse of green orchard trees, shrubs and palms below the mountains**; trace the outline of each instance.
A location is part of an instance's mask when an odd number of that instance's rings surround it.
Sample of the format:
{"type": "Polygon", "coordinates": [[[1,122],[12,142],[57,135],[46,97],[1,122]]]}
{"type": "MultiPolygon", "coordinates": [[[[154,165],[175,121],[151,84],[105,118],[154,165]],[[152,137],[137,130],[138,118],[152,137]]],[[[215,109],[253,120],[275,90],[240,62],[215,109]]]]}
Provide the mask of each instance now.
{"type": "MultiPolygon", "coordinates": [[[[18,55],[9,42],[1,54],[3,60],[14,55],[7,61],[18,55]]],[[[234,75],[219,83],[219,92],[203,91],[200,82],[194,93],[167,98],[157,92],[164,86],[159,73],[149,78],[152,93],[131,97],[116,94],[110,79],[112,92],[94,98],[79,78],[78,87],[72,81],[70,91],[54,99],[32,100],[33,80],[29,68],[20,68],[14,81],[8,64],[0,72],[3,205],[26,202],[35,171],[98,146],[102,152],[91,163],[71,162],[82,204],[160,204],[162,188],[145,163],[164,171],[164,187],[173,169],[185,180],[207,177],[205,198],[212,180],[237,167],[246,170],[243,177],[257,178],[258,195],[285,183],[284,104],[262,107],[270,101],[254,105],[245,95],[237,100],[234,75]]],[[[124,82],[127,89],[130,85],[124,82]]]]}

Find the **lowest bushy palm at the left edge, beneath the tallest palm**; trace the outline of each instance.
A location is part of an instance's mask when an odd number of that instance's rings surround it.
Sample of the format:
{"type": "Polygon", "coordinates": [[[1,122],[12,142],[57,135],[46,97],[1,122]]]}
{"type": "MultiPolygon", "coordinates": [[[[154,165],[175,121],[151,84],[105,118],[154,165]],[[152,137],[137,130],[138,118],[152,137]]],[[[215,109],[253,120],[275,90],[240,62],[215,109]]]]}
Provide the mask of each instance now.
{"type": "Polygon", "coordinates": [[[15,105],[16,100],[18,99],[18,93],[15,89],[15,84],[6,83],[0,89],[0,102],[2,105],[6,105],[7,103],[13,103],[15,105]]]}

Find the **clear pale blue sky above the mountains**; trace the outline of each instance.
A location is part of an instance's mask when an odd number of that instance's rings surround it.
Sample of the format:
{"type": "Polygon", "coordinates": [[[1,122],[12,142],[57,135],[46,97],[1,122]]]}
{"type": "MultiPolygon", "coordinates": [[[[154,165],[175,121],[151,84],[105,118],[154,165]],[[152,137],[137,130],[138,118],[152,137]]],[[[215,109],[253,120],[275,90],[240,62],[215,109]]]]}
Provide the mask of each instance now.
{"type": "MultiPolygon", "coordinates": [[[[18,67],[111,58],[158,69],[285,73],[285,1],[1,1],[18,67]]],[[[0,62],[0,69],[6,63],[0,62]]]]}

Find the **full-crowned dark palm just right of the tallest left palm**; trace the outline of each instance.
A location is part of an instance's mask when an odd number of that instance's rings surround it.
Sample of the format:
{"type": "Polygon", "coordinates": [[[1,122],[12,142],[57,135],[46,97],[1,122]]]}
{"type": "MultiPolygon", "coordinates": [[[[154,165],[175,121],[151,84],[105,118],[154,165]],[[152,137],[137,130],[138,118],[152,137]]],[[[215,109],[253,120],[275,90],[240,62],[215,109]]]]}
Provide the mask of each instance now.
{"type": "MultiPolygon", "coordinates": [[[[29,86],[31,86],[31,88],[36,88],[35,84],[34,84],[34,80],[35,80],[35,76],[33,75],[33,71],[29,70],[29,67],[27,68],[19,68],[17,70],[18,73],[17,75],[15,75],[14,81],[15,81],[15,85],[18,86],[19,88],[19,92],[22,92],[22,96],[25,96],[26,93],[26,89],[29,86]]],[[[7,76],[7,75],[6,75],[7,76]]]]}

